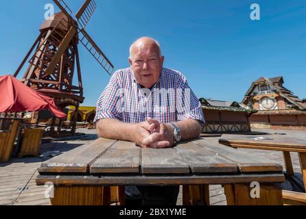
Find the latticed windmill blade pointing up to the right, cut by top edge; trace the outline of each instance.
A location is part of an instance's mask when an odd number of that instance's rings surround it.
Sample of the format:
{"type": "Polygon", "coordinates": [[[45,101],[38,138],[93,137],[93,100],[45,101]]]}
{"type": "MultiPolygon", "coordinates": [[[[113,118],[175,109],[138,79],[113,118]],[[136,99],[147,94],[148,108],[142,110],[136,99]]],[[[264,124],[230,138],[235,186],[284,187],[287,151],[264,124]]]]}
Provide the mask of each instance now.
{"type": "Polygon", "coordinates": [[[97,4],[95,3],[94,0],[84,1],[78,13],[75,14],[80,29],[84,29],[86,27],[87,23],[89,23],[89,19],[93,15],[93,12],[95,12],[96,8],[97,4]]]}

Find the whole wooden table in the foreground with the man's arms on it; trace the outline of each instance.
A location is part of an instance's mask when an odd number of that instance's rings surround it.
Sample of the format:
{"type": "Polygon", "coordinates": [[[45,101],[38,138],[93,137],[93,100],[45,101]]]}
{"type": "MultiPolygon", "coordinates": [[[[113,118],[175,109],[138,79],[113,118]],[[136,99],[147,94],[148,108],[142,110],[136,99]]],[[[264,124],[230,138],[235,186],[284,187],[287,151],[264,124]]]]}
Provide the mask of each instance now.
{"type": "Polygon", "coordinates": [[[53,205],[109,205],[115,200],[122,205],[125,185],[184,185],[184,205],[209,205],[209,184],[224,185],[230,205],[281,205],[282,170],[270,160],[204,138],[174,149],[140,149],[99,138],[43,163],[36,183],[54,183],[53,205]],[[261,198],[250,198],[254,181],[261,185],[261,198]]]}

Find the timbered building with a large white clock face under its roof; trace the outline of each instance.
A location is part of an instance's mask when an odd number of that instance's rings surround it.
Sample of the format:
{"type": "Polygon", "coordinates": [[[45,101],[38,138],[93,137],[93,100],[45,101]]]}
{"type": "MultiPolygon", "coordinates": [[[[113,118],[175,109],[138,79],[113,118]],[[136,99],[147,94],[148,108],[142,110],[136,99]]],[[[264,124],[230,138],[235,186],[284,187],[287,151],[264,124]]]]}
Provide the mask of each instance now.
{"type": "Polygon", "coordinates": [[[283,86],[283,77],[252,82],[242,105],[258,110],[250,116],[252,128],[306,131],[306,101],[283,86]]]}

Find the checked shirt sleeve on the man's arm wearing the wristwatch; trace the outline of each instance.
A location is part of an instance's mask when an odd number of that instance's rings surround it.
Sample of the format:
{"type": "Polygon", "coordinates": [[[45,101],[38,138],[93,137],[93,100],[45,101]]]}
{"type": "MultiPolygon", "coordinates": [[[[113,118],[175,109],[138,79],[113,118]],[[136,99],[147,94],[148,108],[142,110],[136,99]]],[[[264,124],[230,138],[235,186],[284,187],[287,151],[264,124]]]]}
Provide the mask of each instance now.
{"type": "Polygon", "coordinates": [[[205,119],[201,103],[189,87],[187,79],[183,79],[180,83],[177,92],[176,110],[179,121],[185,119],[198,120],[204,127],[205,119]]]}

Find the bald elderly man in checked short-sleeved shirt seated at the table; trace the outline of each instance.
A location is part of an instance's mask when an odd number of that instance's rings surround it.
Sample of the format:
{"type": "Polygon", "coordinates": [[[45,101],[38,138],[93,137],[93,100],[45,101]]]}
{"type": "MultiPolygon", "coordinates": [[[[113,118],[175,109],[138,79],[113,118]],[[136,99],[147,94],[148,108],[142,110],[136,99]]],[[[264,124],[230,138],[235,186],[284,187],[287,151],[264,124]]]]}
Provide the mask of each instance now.
{"type": "MultiPolygon", "coordinates": [[[[100,138],[162,149],[197,138],[204,125],[200,102],[177,70],[163,68],[161,47],[139,38],[130,47],[130,68],[117,70],[97,102],[100,138]]],[[[126,187],[126,203],[176,205],[178,186],[126,187]]]]}

